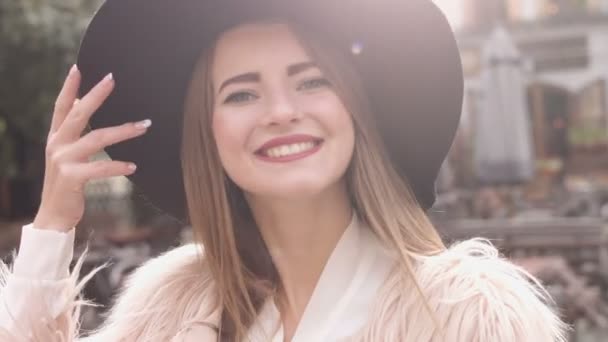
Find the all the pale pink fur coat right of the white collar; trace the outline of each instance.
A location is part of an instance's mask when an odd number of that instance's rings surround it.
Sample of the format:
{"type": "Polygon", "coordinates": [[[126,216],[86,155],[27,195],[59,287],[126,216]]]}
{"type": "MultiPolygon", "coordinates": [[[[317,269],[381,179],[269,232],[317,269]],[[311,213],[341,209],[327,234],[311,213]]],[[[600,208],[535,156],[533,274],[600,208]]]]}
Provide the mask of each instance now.
{"type": "Polygon", "coordinates": [[[567,341],[569,328],[542,285],[487,240],[420,257],[414,271],[433,315],[412,280],[395,272],[365,333],[368,341],[567,341]]]}

